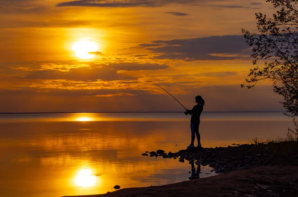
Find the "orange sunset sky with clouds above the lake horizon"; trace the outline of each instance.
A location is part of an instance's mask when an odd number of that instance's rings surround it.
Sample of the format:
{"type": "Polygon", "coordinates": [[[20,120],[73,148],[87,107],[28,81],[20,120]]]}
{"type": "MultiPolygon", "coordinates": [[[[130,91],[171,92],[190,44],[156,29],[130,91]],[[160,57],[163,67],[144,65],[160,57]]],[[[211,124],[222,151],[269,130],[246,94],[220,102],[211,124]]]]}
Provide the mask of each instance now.
{"type": "Polygon", "coordinates": [[[257,32],[255,12],[275,11],[265,0],[0,0],[0,112],[184,111],[147,80],[186,108],[201,95],[204,111],[284,111],[270,81],[240,87],[253,68],[241,28],[257,32]]]}

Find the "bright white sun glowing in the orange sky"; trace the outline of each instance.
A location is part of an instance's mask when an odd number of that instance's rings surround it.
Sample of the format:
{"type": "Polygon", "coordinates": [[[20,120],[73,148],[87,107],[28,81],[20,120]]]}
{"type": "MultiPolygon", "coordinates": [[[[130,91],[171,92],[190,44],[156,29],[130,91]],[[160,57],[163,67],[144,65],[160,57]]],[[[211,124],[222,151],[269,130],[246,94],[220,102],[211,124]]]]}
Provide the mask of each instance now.
{"type": "Polygon", "coordinates": [[[72,50],[80,59],[91,59],[94,58],[94,54],[89,54],[89,52],[96,52],[98,44],[92,41],[78,41],[73,44],[72,50]]]}

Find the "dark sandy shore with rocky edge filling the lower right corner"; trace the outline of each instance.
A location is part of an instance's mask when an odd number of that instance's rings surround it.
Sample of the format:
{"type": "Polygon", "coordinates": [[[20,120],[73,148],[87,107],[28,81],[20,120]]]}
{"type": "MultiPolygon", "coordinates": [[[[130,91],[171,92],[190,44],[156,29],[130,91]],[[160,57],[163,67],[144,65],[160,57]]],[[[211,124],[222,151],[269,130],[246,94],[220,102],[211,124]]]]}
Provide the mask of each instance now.
{"type": "MultiPolygon", "coordinates": [[[[216,165],[215,169],[222,169],[222,173],[164,186],[120,189],[115,192],[111,189],[111,193],[81,197],[297,197],[297,150],[296,141],[181,150],[170,154],[170,157],[179,156],[179,161],[183,159],[184,162],[185,158],[194,160],[200,155],[203,159],[198,161],[205,162],[204,165],[212,162],[216,165]],[[214,159],[208,161],[209,158],[205,159],[204,155],[210,153],[213,154],[210,158],[214,159]],[[216,156],[218,153],[220,155],[216,156]],[[229,158],[233,158],[233,162],[229,158]],[[232,164],[230,168],[218,167],[226,166],[225,162],[232,164]]],[[[166,158],[164,153],[157,156],[166,158]]]]}

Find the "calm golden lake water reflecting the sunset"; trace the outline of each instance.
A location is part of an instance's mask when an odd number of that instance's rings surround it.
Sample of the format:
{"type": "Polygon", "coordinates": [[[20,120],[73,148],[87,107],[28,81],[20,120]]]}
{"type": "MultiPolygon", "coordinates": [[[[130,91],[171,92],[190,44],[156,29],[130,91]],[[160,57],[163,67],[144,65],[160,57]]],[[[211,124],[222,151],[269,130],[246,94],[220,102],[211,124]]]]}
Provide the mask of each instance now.
{"type": "MultiPolygon", "coordinates": [[[[188,180],[191,165],[141,156],[190,142],[183,113],[0,114],[0,196],[61,197],[188,180]]],[[[203,113],[203,147],[285,137],[283,113],[203,113]]],[[[197,167],[195,165],[195,167],[197,167]]],[[[212,176],[202,167],[201,178],[212,176]]]]}

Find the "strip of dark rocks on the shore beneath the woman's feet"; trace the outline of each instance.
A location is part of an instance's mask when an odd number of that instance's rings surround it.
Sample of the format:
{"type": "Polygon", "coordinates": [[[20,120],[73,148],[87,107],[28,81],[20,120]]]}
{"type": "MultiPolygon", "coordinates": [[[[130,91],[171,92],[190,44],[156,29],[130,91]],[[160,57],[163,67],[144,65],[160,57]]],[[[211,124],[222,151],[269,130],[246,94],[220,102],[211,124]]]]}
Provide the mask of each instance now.
{"type": "Polygon", "coordinates": [[[176,153],[163,150],[143,153],[143,156],[178,159],[202,166],[209,165],[216,173],[251,169],[258,166],[298,165],[298,142],[269,142],[216,148],[189,148],[176,153]]]}

